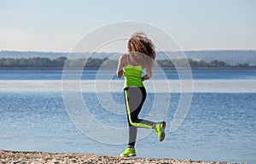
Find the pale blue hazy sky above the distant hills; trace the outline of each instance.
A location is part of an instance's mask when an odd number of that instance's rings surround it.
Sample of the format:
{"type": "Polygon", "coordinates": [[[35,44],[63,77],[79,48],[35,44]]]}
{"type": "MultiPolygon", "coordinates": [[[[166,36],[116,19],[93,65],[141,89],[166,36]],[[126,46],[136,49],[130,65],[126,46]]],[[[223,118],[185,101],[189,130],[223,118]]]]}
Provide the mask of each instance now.
{"type": "Polygon", "coordinates": [[[0,0],[0,50],[70,52],[99,26],[126,20],[159,27],[183,50],[256,50],[255,15],[254,0],[0,0]]]}

